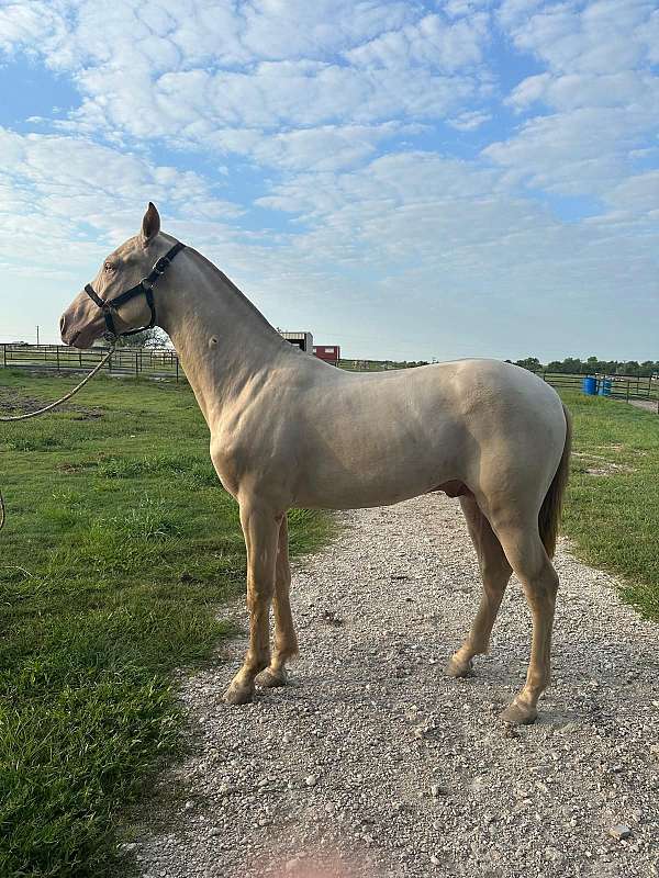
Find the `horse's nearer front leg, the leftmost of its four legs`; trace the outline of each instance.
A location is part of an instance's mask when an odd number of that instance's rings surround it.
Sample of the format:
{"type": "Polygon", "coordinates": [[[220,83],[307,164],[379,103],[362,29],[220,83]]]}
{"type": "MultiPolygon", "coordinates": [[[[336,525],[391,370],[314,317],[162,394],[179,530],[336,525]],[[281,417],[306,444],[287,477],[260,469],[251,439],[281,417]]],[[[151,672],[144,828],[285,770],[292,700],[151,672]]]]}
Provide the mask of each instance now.
{"type": "Polygon", "coordinates": [[[247,547],[249,645],[243,666],[224,694],[224,700],[230,705],[244,705],[252,700],[254,678],[270,662],[269,616],[281,520],[281,513],[272,513],[253,500],[241,502],[241,525],[247,547]]]}

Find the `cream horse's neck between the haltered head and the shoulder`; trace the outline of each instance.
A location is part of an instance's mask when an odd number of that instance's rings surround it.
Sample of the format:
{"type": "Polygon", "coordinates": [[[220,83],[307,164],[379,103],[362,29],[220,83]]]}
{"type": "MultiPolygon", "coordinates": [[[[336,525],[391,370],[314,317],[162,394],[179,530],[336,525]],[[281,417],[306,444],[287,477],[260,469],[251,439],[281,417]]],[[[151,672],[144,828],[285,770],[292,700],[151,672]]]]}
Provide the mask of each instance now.
{"type": "Polygon", "coordinates": [[[179,259],[180,280],[158,309],[158,323],[212,429],[233,399],[245,403],[249,390],[294,351],[211,262],[192,250],[179,259]]]}

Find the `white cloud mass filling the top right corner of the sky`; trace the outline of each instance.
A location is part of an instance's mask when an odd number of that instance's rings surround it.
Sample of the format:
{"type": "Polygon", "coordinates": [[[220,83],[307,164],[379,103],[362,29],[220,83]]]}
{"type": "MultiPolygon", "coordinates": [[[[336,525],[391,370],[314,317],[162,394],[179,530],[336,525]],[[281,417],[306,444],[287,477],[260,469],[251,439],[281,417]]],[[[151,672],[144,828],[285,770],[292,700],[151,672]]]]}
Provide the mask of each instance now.
{"type": "Polygon", "coordinates": [[[509,168],[511,181],[602,198],[634,172],[637,150],[659,126],[659,77],[649,66],[656,4],[536,7],[507,2],[500,11],[515,46],[547,67],[520,82],[506,103],[517,113],[550,112],[483,154],[509,168]]]}

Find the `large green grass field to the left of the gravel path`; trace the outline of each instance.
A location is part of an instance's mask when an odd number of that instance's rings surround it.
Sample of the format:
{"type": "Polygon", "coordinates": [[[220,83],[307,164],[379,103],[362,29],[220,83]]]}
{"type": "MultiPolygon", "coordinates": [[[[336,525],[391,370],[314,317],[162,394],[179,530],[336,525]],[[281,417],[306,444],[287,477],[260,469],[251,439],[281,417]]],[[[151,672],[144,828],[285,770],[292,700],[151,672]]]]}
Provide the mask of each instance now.
{"type": "MultiPolygon", "coordinates": [[[[0,404],[74,383],[0,370],[0,404]]],[[[122,812],[179,743],[172,671],[228,633],[237,507],[189,387],[135,380],[0,424],[0,875],[116,875],[122,812]]],[[[290,527],[304,552],[330,525],[293,510],[290,527]]]]}

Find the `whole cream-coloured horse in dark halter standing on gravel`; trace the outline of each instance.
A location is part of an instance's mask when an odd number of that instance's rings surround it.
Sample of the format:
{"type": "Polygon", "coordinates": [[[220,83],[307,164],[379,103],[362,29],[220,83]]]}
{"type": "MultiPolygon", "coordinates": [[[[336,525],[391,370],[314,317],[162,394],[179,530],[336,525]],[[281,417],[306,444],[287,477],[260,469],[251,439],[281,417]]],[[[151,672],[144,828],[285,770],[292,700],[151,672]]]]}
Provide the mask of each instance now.
{"type": "Polygon", "coordinates": [[[107,328],[122,335],[153,325],[156,311],[209,426],[217,475],[241,508],[249,646],[225,700],[249,701],[255,683],[283,685],[298,652],[290,507],[350,509],[444,491],[460,498],[483,579],[471,631],[447,673],[467,675],[487,652],[514,571],[530,605],[533,642],[526,683],[502,717],[533,722],[549,682],[558,587],[550,558],[570,453],[570,421],[555,391],[493,360],[370,374],[323,363],[284,341],[201,254],[177,247],[149,204],[142,232],[105,259],[63,315],[62,338],[86,348],[107,328]],[[331,439],[321,423],[337,425],[331,439]]]}

